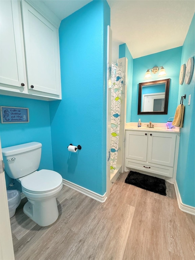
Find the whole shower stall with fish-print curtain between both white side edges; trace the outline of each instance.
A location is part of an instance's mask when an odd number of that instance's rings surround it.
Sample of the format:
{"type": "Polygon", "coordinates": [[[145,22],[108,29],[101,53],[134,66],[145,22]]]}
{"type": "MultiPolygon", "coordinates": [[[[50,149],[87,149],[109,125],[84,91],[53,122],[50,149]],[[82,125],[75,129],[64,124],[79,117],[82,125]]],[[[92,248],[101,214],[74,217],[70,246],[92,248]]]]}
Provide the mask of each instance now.
{"type": "Polygon", "coordinates": [[[124,171],[127,58],[112,62],[112,30],[107,34],[107,197],[124,171]]]}

